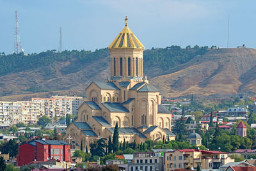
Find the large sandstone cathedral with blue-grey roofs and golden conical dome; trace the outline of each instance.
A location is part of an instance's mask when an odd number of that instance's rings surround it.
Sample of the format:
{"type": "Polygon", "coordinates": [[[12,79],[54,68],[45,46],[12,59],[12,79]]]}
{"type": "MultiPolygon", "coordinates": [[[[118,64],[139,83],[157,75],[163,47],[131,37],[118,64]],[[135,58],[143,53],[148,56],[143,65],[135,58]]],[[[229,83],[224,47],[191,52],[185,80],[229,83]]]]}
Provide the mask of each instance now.
{"type": "Polygon", "coordinates": [[[119,142],[139,144],[148,139],[169,137],[172,114],[161,105],[161,94],[143,77],[143,50],[140,40],[127,26],[108,47],[110,77],[86,87],[87,101],[78,108],[78,117],[66,129],[64,140],[72,148],[83,148],[99,138],[113,137],[118,124],[119,142]]]}

